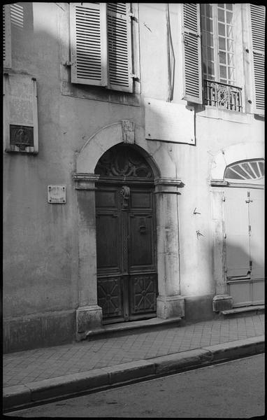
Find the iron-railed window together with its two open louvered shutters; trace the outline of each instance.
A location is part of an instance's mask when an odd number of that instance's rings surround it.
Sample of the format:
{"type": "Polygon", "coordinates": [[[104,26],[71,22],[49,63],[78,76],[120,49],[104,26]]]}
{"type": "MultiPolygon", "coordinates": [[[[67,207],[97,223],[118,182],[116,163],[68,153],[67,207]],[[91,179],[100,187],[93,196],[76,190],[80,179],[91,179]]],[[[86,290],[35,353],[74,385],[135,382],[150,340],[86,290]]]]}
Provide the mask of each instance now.
{"type": "Polygon", "coordinates": [[[182,3],[181,21],[182,99],[245,112],[242,87],[251,79],[245,101],[252,104],[252,113],[264,114],[265,6],[182,3]],[[240,12],[245,22],[242,29],[237,27],[237,10],[239,25],[240,12]],[[248,34],[247,45],[243,34],[248,34]],[[247,79],[239,84],[245,65],[249,66],[247,79]]]}

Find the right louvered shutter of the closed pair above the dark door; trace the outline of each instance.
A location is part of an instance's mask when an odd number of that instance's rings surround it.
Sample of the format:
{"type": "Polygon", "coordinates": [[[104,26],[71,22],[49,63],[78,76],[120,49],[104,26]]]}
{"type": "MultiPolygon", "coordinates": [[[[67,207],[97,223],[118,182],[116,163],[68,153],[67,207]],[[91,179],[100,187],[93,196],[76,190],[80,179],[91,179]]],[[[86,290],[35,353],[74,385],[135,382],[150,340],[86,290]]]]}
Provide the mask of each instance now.
{"type": "Polygon", "coordinates": [[[130,3],[107,3],[109,87],[133,92],[130,3]]]}

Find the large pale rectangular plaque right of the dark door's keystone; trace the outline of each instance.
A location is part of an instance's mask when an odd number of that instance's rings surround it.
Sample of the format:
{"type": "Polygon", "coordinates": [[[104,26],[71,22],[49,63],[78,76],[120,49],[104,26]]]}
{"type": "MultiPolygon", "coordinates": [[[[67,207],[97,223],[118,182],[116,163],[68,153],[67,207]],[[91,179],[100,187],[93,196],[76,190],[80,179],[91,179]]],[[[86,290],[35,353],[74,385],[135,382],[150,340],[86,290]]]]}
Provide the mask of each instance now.
{"type": "Polygon", "coordinates": [[[144,99],[145,138],[195,144],[194,106],[144,99]]]}

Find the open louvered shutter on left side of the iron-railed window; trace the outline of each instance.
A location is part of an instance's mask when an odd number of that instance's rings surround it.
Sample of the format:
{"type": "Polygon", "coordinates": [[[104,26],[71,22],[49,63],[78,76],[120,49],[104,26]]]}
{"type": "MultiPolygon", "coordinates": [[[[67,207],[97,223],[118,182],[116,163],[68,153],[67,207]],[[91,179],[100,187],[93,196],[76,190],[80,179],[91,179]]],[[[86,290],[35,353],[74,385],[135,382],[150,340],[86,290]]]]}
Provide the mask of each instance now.
{"type": "Polygon", "coordinates": [[[199,3],[182,3],[182,99],[202,104],[199,3]]]}

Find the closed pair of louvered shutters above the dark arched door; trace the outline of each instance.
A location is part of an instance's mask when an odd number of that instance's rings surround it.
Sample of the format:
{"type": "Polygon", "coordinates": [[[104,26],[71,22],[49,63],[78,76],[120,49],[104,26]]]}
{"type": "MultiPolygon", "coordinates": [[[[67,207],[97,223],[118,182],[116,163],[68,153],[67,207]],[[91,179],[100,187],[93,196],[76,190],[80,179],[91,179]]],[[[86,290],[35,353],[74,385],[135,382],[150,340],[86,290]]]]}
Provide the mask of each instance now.
{"type": "Polygon", "coordinates": [[[71,81],[133,92],[131,3],[71,3],[71,81]]]}

